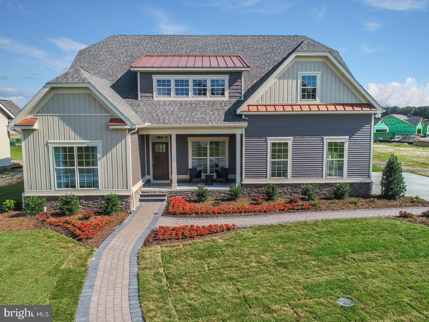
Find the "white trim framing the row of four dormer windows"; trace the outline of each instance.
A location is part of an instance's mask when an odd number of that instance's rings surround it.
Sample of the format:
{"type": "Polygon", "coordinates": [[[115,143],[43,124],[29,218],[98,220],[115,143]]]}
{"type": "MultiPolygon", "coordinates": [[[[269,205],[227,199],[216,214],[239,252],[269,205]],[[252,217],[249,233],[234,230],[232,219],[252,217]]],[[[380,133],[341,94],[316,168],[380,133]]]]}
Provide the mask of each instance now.
{"type": "Polygon", "coordinates": [[[228,100],[229,97],[229,75],[153,75],[152,80],[154,100],[228,100]],[[157,79],[171,79],[171,96],[157,96],[157,79]],[[189,96],[175,96],[175,79],[189,80],[189,96]],[[193,79],[207,79],[207,96],[193,96],[193,79]],[[224,96],[211,96],[211,79],[223,79],[225,81],[224,96]]]}

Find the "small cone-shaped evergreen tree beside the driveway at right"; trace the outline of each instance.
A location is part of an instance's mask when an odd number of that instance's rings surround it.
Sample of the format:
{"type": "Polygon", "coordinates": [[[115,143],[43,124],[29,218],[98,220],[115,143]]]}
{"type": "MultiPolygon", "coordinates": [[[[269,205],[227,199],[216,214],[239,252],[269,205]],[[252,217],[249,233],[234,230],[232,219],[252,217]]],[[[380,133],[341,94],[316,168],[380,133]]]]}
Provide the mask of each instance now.
{"type": "Polygon", "coordinates": [[[380,184],[382,187],[381,195],[389,199],[399,199],[407,191],[407,185],[405,184],[404,176],[402,176],[401,163],[393,153],[389,155],[380,184]]]}

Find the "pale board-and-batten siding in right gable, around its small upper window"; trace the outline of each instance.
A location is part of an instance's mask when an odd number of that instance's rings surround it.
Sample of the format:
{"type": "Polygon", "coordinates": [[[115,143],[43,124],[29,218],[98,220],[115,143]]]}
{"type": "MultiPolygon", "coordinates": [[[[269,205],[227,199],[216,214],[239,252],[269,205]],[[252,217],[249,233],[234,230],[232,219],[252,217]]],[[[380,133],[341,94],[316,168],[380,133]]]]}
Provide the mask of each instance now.
{"type": "Polygon", "coordinates": [[[294,61],[256,103],[298,103],[301,100],[298,72],[321,72],[317,88],[321,103],[362,102],[325,61],[294,61]]]}

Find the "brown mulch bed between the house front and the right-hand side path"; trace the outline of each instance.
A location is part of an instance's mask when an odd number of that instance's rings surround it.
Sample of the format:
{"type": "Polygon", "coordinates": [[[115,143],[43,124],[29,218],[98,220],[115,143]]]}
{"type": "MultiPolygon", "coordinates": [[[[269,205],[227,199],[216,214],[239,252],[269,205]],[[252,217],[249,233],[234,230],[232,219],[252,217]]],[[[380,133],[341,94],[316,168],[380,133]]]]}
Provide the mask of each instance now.
{"type": "MultiPolygon", "coordinates": [[[[332,198],[317,198],[317,202],[319,203],[318,206],[314,206],[311,209],[308,210],[282,210],[281,213],[302,213],[302,212],[308,212],[308,211],[332,211],[332,210],[354,210],[354,209],[377,209],[377,208],[405,208],[405,207],[429,207],[429,201],[424,199],[417,199],[414,202],[414,197],[403,197],[398,200],[390,200],[382,198],[378,195],[373,195],[373,197],[370,198],[357,198],[357,197],[348,197],[344,198],[343,200],[337,200],[337,204],[332,204],[332,198]],[[377,198],[375,202],[371,202],[373,198],[377,198]],[[357,199],[360,201],[359,204],[351,204],[351,199],[357,199]]],[[[239,204],[245,204],[247,206],[254,206],[257,205],[254,198],[242,198],[237,200],[228,200],[228,199],[215,199],[210,198],[204,202],[198,202],[195,199],[187,199],[187,201],[190,204],[195,204],[198,206],[204,206],[204,207],[215,207],[214,203],[217,200],[221,200],[223,202],[222,206],[238,206],[239,204]]],[[[274,201],[266,201],[263,204],[260,204],[260,206],[270,206],[273,204],[277,204],[278,202],[290,202],[290,197],[281,197],[274,201]]],[[[310,202],[307,201],[307,205],[309,205],[310,202]]],[[[428,208],[429,209],[429,208],[428,208]]],[[[205,213],[205,214],[169,214],[169,204],[167,203],[166,207],[164,208],[164,211],[162,213],[162,216],[166,217],[175,217],[175,218],[215,218],[215,217],[240,217],[240,216],[260,216],[260,215],[268,215],[272,213],[276,213],[275,211],[269,212],[269,213],[225,213],[225,214],[218,214],[215,213],[205,213]]]]}

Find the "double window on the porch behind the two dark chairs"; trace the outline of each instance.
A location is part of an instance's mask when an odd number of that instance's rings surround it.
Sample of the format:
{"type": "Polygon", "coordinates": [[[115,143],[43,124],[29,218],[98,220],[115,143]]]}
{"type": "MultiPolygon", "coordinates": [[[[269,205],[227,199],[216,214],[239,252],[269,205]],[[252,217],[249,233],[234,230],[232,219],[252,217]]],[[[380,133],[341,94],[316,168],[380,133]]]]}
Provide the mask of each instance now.
{"type": "Polygon", "coordinates": [[[228,138],[189,137],[190,164],[201,173],[216,173],[221,167],[227,167],[228,138]],[[204,139],[204,140],[203,140],[204,139]]]}

